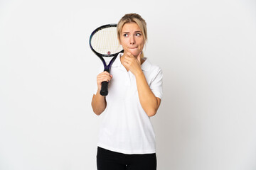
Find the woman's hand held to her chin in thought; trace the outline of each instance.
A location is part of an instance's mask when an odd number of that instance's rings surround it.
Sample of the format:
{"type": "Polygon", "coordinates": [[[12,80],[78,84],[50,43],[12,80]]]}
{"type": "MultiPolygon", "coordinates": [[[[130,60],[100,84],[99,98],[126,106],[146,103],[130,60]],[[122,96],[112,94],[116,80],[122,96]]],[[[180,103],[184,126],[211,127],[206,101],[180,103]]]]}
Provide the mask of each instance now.
{"type": "Polygon", "coordinates": [[[139,53],[137,57],[134,57],[131,52],[127,52],[126,55],[124,55],[124,66],[127,67],[135,76],[137,73],[142,71],[141,55],[142,52],[139,53]]]}

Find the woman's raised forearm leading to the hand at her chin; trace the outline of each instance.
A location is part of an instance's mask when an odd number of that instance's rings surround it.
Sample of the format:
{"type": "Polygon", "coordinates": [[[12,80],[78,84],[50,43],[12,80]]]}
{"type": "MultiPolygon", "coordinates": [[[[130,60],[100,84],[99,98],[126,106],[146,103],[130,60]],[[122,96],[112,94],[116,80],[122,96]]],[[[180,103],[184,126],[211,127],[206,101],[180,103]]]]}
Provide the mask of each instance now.
{"type": "Polygon", "coordinates": [[[156,111],[159,108],[159,100],[156,98],[156,96],[154,96],[153,92],[149,88],[146,77],[142,71],[138,72],[135,77],[139,94],[139,102],[141,103],[146,114],[153,116],[156,114],[156,111]]]}

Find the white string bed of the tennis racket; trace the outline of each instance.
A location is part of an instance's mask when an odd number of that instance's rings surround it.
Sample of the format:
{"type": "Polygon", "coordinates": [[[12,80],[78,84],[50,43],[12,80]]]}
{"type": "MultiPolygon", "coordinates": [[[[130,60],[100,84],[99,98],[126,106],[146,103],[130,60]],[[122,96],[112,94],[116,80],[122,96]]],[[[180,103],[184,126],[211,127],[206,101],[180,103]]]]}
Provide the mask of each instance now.
{"type": "Polygon", "coordinates": [[[117,28],[110,27],[97,31],[92,36],[92,48],[103,55],[112,55],[122,50],[117,39],[117,28]]]}

